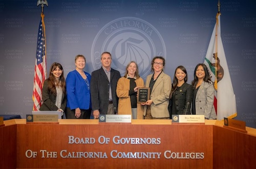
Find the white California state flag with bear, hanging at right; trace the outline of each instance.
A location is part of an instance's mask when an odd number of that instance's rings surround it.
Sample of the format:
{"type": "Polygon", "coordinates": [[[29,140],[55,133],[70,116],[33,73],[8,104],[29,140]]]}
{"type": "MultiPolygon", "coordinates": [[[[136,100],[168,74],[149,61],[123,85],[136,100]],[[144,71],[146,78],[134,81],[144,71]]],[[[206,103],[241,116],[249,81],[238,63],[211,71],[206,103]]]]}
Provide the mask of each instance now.
{"type": "Polygon", "coordinates": [[[217,119],[223,120],[224,117],[234,118],[237,116],[237,104],[221,40],[220,15],[221,13],[218,12],[204,64],[208,68],[211,81],[215,83],[217,119]]]}

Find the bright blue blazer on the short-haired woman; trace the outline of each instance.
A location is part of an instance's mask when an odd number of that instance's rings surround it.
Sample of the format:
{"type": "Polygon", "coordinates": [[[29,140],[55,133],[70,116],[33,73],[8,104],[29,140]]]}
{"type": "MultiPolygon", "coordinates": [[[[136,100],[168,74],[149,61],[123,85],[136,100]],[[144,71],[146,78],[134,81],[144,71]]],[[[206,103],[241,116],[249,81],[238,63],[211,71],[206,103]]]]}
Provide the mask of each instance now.
{"type": "MultiPolygon", "coordinates": [[[[85,72],[89,83],[91,82],[91,75],[85,72]]],[[[89,85],[90,87],[90,85],[89,85]]],[[[67,88],[67,100],[71,110],[75,108],[80,108],[88,110],[91,108],[91,93],[90,89],[81,74],[77,70],[73,70],[68,73],[66,78],[66,88],[67,88]]]]}

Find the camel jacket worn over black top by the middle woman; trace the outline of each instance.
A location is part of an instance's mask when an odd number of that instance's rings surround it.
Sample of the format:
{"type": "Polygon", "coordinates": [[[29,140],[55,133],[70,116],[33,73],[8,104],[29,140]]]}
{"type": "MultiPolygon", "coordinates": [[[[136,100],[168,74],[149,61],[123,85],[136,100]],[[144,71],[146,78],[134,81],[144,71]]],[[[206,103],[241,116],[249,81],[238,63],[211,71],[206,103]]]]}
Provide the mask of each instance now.
{"type": "MultiPolygon", "coordinates": [[[[136,86],[144,87],[144,81],[142,78],[135,80],[136,86]]],[[[118,115],[132,115],[131,99],[129,96],[130,80],[127,78],[120,78],[117,82],[116,95],[119,98],[118,101],[118,115]]],[[[143,119],[143,106],[137,104],[137,119],[143,119]]]]}

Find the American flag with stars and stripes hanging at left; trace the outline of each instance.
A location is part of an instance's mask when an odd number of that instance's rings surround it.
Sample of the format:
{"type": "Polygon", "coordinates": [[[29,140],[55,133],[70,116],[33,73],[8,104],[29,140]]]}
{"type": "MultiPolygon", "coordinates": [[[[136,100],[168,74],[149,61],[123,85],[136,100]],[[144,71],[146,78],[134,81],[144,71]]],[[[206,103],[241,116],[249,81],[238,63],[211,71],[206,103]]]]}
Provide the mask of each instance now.
{"type": "Polygon", "coordinates": [[[33,111],[39,110],[42,104],[42,86],[47,77],[46,72],[46,34],[45,34],[45,15],[41,13],[41,21],[37,36],[37,49],[35,59],[35,76],[33,87],[33,111]]]}

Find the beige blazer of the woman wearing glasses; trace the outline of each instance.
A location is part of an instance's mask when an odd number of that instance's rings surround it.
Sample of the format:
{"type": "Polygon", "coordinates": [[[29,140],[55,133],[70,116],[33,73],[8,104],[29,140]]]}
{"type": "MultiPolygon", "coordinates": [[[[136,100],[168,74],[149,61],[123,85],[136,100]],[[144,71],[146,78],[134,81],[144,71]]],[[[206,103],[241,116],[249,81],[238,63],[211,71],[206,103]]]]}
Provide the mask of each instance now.
{"type": "MultiPolygon", "coordinates": [[[[146,78],[145,87],[150,86],[150,81],[153,74],[150,74],[146,78]]],[[[151,116],[154,118],[168,118],[168,104],[169,104],[169,96],[170,90],[172,89],[172,82],[170,77],[162,72],[157,78],[153,89],[151,91],[150,99],[153,101],[151,104],[151,116]]],[[[146,115],[146,108],[144,106],[144,116],[146,115]]]]}

